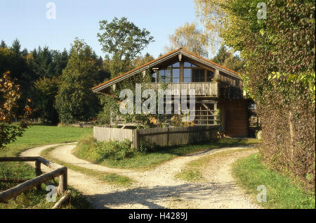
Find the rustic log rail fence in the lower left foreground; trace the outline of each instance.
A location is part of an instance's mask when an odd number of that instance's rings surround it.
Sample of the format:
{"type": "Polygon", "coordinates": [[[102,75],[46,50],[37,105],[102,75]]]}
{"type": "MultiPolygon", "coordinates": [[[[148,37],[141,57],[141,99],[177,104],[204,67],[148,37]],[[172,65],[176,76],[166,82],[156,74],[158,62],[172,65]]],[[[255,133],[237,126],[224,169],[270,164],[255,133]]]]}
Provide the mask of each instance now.
{"type": "MultiPolygon", "coordinates": [[[[0,192],[0,202],[4,203],[11,198],[15,198],[21,193],[28,191],[34,187],[41,188],[41,184],[50,181],[54,177],[59,176],[58,194],[62,194],[67,190],[67,167],[62,167],[56,163],[52,163],[41,157],[1,157],[0,162],[35,162],[35,174],[37,177],[33,179],[27,179],[11,189],[0,192]],[[51,167],[53,171],[46,174],[41,172],[41,164],[51,167]]],[[[14,180],[13,180],[14,181],[14,180]]],[[[68,195],[66,195],[68,196],[68,195]]],[[[65,200],[63,198],[62,200],[65,200]]],[[[60,205],[60,203],[59,203],[60,205]]]]}

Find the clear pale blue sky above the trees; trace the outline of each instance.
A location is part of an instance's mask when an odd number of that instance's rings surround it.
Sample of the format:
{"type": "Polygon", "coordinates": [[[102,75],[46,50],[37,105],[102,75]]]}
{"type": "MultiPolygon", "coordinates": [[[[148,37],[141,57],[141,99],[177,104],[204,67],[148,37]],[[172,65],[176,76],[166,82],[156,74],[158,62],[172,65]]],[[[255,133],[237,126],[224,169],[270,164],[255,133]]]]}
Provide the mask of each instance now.
{"type": "Polygon", "coordinates": [[[126,17],[140,28],[149,30],[155,42],[147,46],[157,58],[169,43],[169,34],[185,22],[197,22],[193,0],[0,0],[0,39],[11,45],[15,38],[22,48],[37,46],[70,49],[74,37],[84,39],[99,56],[100,20],[126,17]],[[46,4],[55,3],[56,19],[46,18],[46,4]]]}

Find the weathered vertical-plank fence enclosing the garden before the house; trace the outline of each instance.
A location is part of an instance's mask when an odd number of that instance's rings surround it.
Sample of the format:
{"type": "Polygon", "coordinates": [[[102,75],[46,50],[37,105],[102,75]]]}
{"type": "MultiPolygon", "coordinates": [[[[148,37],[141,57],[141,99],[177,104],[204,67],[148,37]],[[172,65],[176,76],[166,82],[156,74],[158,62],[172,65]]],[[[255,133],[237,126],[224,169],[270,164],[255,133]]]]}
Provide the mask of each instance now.
{"type": "Polygon", "coordinates": [[[117,129],[94,127],[93,135],[98,141],[124,141],[129,139],[133,148],[147,142],[154,146],[178,146],[202,141],[213,141],[218,136],[218,126],[171,127],[152,129],[117,129]]]}

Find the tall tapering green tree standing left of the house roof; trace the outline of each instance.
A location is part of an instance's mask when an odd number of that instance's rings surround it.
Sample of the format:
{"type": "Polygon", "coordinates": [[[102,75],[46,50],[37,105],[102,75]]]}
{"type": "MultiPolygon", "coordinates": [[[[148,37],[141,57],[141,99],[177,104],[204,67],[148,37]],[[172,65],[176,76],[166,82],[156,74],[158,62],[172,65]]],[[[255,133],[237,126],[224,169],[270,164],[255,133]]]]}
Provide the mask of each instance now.
{"type": "Polygon", "coordinates": [[[96,84],[100,69],[96,53],[84,41],[75,39],[56,96],[55,106],[61,122],[72,123],[96,116],[100,103],[91,88],[96,84]]]}

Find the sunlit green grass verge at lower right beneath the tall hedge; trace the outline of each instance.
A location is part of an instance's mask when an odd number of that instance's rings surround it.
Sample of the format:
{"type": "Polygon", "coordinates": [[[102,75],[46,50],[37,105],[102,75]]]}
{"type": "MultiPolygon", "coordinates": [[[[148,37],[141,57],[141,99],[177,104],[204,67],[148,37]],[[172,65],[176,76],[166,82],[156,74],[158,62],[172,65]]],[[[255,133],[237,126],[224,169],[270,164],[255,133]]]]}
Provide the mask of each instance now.
{"type": "Polygon", "coordinates": [[[278,172],[270,170],[261,163],[259,153],[250,155],[247,158],[237,160],[233,167],[233,174],[240,185],[251,193],[254,201],[259,185],[264,185],[267,189],[267,202],[258,203],[263,208],[277,209],[315,209],[315,194],[304,192],[289,177],[285,177],[278,172]]]}

